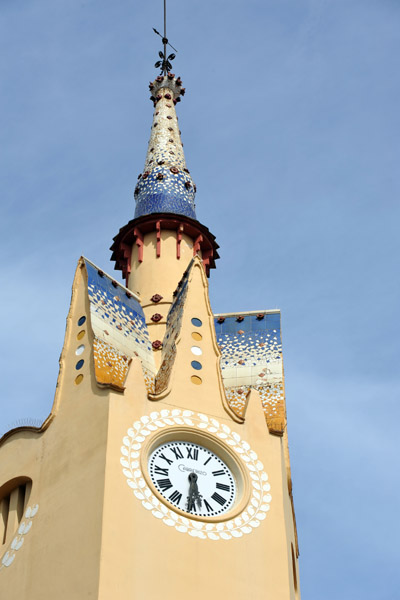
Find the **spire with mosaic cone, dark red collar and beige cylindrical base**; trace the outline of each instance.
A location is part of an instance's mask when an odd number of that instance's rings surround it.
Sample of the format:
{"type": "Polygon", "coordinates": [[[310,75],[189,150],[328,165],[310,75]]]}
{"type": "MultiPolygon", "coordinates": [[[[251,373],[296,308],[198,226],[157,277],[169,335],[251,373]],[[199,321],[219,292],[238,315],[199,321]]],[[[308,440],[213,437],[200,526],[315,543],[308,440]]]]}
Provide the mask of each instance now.
{"type": "MultiPolygon", "coordinates": [[[[153,30],[161,37],[164,49],[154,65],[161,72],[149,85],[154,105],[150,140],[135,187],[135,215],[114,237],[111,260],[122,270],[127,287],[145,302],[163,297],[164,304],[171,304],[176,284],[191,258],[197,254],[209,275],[219,255],[215,236],[196,217],[196,185],[186,165],[175,111],[185,88],[181,78],[171,73],[175,54],[167,55],[167,46],[176,49],[166,37],[165,0],[164,35],[153,30]]],[[[149,302],[143,305],[145,311],[154,309],[153,301],[149,302]]],[[[152,313],[147,316],[150,320],[157,317],[152,313]]]]}

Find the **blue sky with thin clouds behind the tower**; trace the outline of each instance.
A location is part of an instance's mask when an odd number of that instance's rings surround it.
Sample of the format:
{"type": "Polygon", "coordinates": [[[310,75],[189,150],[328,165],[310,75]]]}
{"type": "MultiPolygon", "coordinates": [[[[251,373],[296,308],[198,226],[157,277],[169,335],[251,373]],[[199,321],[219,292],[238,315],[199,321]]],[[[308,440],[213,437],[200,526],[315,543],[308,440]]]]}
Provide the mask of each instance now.
{"type": "MultiPolygon", "coordinates": [[[[167,20],[212,308],[282,311],[302,596],[397,600],[400,2],[167,20]]],[[[50,412],[79,256],[113,272],[162,26],[161,0],[0,2],[2,432],[50,412]]]]}

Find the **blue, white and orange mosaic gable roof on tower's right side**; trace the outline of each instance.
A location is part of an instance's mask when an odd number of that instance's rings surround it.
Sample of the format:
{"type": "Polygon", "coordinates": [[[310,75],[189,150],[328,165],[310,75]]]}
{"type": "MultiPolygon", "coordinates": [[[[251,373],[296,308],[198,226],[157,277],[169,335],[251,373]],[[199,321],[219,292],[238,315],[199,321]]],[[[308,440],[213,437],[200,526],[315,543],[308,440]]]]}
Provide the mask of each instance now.
{"type": "Polygon", "coordinates": [[[250,389],[258,391],[271,433],[284,431],[280,312],[215,315],[221,372],[231,408],[243,417],[250,389]]]}

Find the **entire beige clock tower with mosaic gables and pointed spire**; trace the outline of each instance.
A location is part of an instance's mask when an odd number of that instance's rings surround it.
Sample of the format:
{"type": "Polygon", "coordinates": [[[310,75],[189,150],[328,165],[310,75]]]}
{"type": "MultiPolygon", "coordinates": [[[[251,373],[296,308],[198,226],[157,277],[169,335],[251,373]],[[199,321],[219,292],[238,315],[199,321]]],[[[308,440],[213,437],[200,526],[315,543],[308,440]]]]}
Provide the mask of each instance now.
{"type": "Polygon", "coordinates": [[[124,284],[79,260],[51,413],[0,440],[7,600],[300,598],[280,313],[212,312],[163,42],[124,284]]]}

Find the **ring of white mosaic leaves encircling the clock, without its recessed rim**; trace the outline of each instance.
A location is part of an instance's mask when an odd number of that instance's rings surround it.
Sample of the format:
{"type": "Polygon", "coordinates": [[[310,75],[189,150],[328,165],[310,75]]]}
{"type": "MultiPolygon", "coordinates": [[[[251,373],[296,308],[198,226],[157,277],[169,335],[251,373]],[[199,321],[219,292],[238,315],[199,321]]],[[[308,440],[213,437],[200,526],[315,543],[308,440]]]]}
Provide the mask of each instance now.
{"type": "Polygon", "coordinates": [[[203,540],[230,540],[251,533],[266,518],[271,502],[268,475],[250,445],[241,440],[239,434],[231,431],[227,425],[190,410],[162,410],[141,417],[139,421],[133,423],[127,433],[128,435],[123,439],[120,459],[127,483],[142,506],[168,527],[174,527],[180,533],[187,533],[203,540]],[[193,427],[194,431],[212,433],[237,453],[238,460],[243,461],[248,470],[252,491],[248,506],[239,516],[223,522],[189,519],[168,508],[148,487],[139,462],[142,444],[155,431],[168,426],[176,427],[176,425],[193,427]]]}

